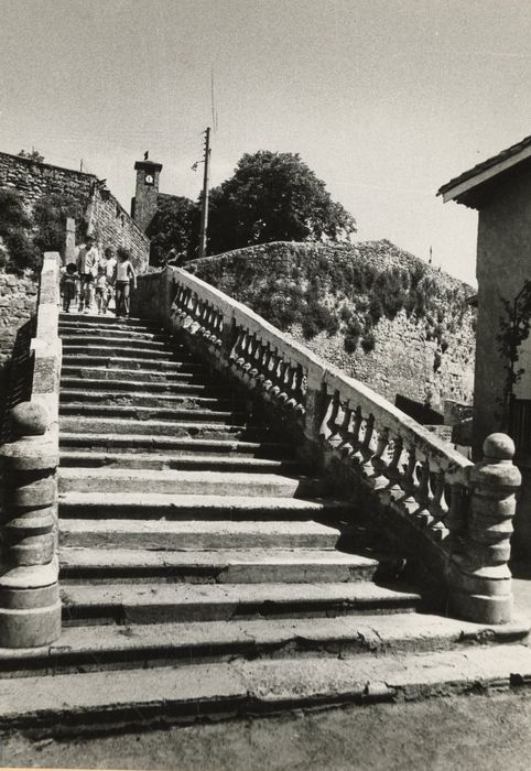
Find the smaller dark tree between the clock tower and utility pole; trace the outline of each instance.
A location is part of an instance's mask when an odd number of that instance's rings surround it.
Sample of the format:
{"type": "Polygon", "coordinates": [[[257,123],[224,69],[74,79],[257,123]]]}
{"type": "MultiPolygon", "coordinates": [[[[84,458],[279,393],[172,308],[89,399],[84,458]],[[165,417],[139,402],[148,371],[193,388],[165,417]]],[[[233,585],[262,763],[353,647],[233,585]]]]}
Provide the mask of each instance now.
{"type": "Polygon", "coordinates": [[[197,205],[189,198],[167,196],[159,199],[159,208],[145,235],[151,239],[150,264],[164,265],[170,253],[187,258],[193,249],[197,205]]]}

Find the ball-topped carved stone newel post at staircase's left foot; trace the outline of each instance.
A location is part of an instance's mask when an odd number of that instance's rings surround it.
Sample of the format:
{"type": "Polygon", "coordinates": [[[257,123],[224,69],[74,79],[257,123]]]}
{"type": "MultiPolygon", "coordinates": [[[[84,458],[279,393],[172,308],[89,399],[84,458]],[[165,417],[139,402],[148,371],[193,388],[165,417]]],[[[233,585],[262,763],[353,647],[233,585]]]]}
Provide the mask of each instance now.
{"type": "Polygon", "coordinates": [[[1,449],[0,647],[32,648],[61,634],[57,585],[57,443],[39,403],[11,411],[13,441],[1,449]],[[50,435],[50,433],[48,433],[50,435]]]}

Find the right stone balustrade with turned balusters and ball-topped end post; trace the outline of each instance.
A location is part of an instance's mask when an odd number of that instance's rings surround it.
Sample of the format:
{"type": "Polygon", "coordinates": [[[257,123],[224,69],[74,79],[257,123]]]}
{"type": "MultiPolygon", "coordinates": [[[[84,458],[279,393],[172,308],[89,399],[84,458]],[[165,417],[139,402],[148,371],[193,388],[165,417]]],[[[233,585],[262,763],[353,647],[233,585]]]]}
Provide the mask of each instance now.
{"type": "Polygon", "coordinates": [[[173,295],[170,316],[161,319],[169,328],[284,420],[291,415],[324,468],[338,474],[339,464],[350,474],[353,499],[364,490],[388,521],[421,535],[418,558],[438,573],[451,612],[478,622],[510,620],[507,563],[520,475],[509,437],[490,436],[485,460],[474,465],[241,303],[182,269],[158,276],[147,276],[145,297],[140,280],[140,315],[154,296],[173,295]]]}

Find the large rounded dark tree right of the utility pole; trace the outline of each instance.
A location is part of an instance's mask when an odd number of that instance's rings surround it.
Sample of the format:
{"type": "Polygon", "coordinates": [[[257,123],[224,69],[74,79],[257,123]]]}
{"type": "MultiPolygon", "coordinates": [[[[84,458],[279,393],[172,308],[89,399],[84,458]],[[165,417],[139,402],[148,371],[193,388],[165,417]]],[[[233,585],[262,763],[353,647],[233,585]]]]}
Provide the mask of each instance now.
{"type": "Polygon", "coordinates": [[[297,153],[246,153],[210,191],[208,252],[271,241],[348,242],[354,217],[297,153]]]}

